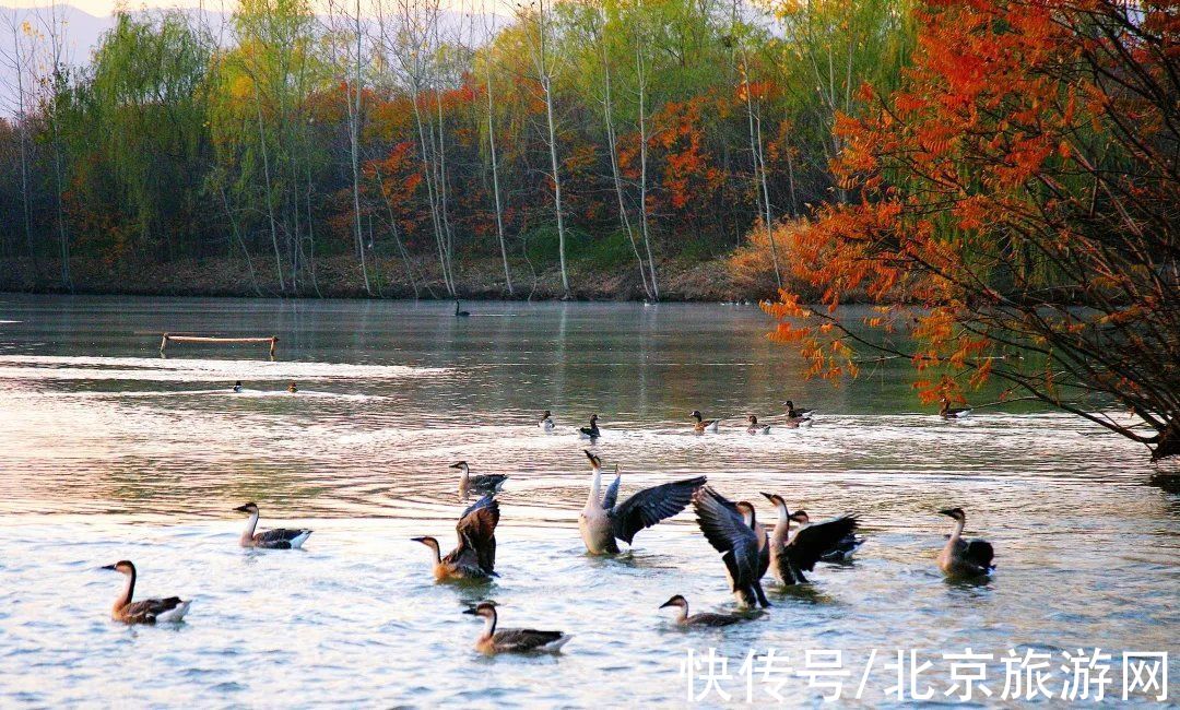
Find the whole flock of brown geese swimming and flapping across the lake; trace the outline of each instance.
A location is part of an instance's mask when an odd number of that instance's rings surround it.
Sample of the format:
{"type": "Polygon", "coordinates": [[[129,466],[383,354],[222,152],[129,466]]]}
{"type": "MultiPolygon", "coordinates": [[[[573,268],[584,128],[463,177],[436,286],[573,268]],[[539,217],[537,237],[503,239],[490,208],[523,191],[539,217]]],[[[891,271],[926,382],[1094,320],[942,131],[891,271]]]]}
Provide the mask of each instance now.
{"type": "MultiPolygon", "coordinates": [[[[242,392],[242,382],[235,382],[232,392],[242,392]]],[[[295,382],[288,392],[297,392],[295,382]]],[[[798,428],[813,423],[812,409],[798,409],[794,402],[785,402],[784,426],[798,428]]],[[[962,419],[970,408],[952,408],[943,397],[939,415],[943,419],[962,419]]],[[[716,434],[719,420],[704,419],[699,410],[690,414],[693,432],[716,434]]],[[[769,434],[771,426],[761,425],[758,418],[747,418],[749,435],[769,434]]],[[[556,429],[552,413],[545,410],[537,426],[545,433],[556,429]]],[[[578,435],[594,443],[599,436],[598,415],[591,415],[589,426],[581,427],[578,435]]],[[[812,522],[806,511],[791,511],[787,501],[774,493],[762,493],[778,513],[773,527],[759,522],[754,505],[746,500],[732,501],[708,485],[703,475],[651,486],[618,501],[622,475],[615,466],[615,479],[602,489],[602,460],[584,449],[590,462],[592,479],[585,506],[578,517],[578,530],[589,554],[618,554],[620,541],[631,545],[635,535],[662,520],[667,520],[691,506],[696,522],[708,540],[720,553],[725,566],[729,591],[746,613],[689,613],[688,600],[676,594],[661,605],[676,609],[676,624],[688,627],[721,627],[750,619],[749,610],[771,606],[762,590],[762,578],[771,572],[773,579],[784,587],[808,584],[805,572],[824,563],[847,563],[864,543],[857,534],[859,519],[854,514],[839,515],[830,520],[812,522]],[[794,526],[793,526],[794,524],[794,526]]],[[[459,497],[479,500],[467,507],[455,525],[458,543],[442,554],[437,538],[422,535],[413,538],[431,550],[433,573],[438,583],[489,583],[499,577],[496,572],[496,527],[500,520],[500,506],[496,495],[500,493],[509,476],[505,474],[472,474],[466,461],[451,466],[459,472],[459,497]]],[[[306,528],[275,528],[256,532],[258,506],[248,502],[234,508],[248,515],[242,532],[242,547],[266,550],[295,550],[312,535],[306,528]]],[[[938,511],[953,520],[950,535],[938,554],[939,570],[955,579],[985,579],[995,570],[995,553],[985,540],[968,540],[963,537],[966,514],[963,508],[938,511]]],[[[126,624],[175,623],[183,619],[191,600],[179,597],[164,599],[132,600],[136,586],[136,566],[130,560],[120,560],[103,567],[126,576],[123,593],[114,603],[111,616],[126,624]]],[[[557,652],[570,640],[564,631],[536,629],[498,627],[498,612],[493,601],[480,601],[464,613],[484,619],[484,627],[476,640],[476,650],[483,653],[500,652],[557,652]]]]}

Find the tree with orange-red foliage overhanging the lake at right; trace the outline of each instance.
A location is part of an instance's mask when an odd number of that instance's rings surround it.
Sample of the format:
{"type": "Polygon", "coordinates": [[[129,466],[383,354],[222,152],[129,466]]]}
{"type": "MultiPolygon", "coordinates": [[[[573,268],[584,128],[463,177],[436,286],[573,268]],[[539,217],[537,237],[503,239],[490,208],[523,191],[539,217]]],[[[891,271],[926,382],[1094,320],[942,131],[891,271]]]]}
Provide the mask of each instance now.
{"type": "Polygon", "coordinates": [[[1169,0],[931,0],[897,91],[844,116],[852,204],[796,232],[774,337],[812,373],[912,359],[1180,454],[1180,15],[1169,0]],[[894,305],[853,323],[837,304],[894,305]],[[1104,412],[1115,402],[1133,413],[1104,412]]]}

